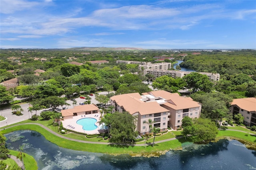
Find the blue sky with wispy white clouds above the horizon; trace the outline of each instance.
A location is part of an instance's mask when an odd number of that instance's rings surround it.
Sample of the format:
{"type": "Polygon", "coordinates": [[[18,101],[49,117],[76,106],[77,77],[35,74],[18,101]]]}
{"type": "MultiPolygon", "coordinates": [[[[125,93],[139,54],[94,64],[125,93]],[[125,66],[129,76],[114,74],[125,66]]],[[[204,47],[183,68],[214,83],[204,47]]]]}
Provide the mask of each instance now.
{"type": "Polygon", "coordinates": [[[0,48],[256,49],[255,0],[0,0],[0,48]]]}

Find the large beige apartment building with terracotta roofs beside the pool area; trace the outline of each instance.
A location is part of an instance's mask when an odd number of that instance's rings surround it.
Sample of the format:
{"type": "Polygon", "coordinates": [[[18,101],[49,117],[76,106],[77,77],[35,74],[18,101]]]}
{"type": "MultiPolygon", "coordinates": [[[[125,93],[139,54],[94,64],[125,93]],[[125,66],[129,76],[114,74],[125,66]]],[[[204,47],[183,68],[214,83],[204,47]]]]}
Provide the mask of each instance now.
{"type": "Polygon", "coordinates": [[[148,120],[152,120],[152,127],[164,131],[167,127],[177,129],[182,125],[182,118],[189,116],[198,118],[202,104],[193,101],[190,97],[181,97],[178,93],[167,91],[150,91],[148,93],[128,93],[110,97],[114,106],[112,112],[127,111],[137,116],[137,131],[140,134],[149,133],[148,120]]]}

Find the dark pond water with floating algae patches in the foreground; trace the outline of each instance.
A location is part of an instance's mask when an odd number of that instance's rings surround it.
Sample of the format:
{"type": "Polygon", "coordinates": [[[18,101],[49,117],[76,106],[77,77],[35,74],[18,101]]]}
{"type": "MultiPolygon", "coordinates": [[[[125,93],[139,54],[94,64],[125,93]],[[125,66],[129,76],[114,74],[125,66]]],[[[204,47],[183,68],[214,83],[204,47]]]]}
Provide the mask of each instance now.
{"type": "Polygon", "coordinates": [[[38,170],[256,169],[256,151],[247,149],[237,140],[223,139],[207,145],[186,144],[183,150],[170,150],[160,157],[144,158],[60,148],[31,130],[19,130],[5,136],[9,149],[17,150],[24,145],[24,151],[36,159],[38,170]]]}

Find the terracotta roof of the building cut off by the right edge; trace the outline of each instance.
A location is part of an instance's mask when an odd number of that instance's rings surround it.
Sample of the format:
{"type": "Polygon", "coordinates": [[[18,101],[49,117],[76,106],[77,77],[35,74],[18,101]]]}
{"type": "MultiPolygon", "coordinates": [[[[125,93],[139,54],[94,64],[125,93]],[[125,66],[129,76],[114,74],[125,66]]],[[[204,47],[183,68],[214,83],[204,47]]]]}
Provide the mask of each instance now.
{"type": "Polygon", "coordinates": [[[233,99],[231,105],[237,105],[240,109],[252,112],[256,111],[256,97],[233,99]]]}

